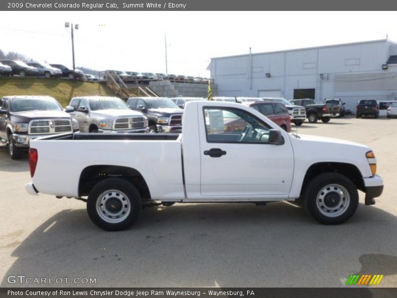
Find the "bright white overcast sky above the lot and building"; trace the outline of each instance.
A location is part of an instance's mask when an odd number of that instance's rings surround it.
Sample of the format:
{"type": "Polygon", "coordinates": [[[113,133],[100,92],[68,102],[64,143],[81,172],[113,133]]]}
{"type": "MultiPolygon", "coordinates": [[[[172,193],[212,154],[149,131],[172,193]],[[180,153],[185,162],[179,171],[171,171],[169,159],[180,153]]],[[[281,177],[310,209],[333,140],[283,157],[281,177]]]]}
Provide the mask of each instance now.
{"type": "Polygon", "coordinates": [[[76,66],[209,76],[211,57],[397,40],[391,12],[79,11],[1,12],[0,49],[71,66],[65,21],[78,23],[76,66]]]}

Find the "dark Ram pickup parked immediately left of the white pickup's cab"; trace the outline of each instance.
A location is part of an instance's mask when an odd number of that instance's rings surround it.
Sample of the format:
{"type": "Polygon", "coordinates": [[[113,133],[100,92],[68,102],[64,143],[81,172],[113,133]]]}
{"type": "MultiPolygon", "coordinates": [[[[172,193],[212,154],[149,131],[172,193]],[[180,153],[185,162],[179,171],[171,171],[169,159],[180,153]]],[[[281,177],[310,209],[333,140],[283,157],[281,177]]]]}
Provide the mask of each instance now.
{"type": "Polygon", "coordinates": [[[132,110],[143,113],[149,119],[150,133],[182,132],[182,114],[171,99],[165,97],[130,97],[127,104],[132,110]]]}

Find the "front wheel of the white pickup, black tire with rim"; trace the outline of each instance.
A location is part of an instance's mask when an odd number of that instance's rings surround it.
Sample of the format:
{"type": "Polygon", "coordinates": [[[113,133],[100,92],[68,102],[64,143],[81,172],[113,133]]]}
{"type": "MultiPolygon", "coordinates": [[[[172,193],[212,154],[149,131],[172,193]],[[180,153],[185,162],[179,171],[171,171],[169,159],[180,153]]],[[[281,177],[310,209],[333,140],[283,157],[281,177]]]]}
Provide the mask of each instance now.
{"type": "Polygon", "coordinates": [[[357,210],[357,187],[344,175],[323,173],[306,186],[303,205],[319,223],[342,224],[357,210]]]}

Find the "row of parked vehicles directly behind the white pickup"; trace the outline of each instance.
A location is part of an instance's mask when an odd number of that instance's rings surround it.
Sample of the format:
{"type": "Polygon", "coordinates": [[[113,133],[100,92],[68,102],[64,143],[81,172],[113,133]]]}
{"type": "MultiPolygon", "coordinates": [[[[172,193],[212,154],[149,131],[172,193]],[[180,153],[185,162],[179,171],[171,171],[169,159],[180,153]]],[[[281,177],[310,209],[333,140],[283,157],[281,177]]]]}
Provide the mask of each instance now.
{"type": "MultiPolygon", "coordinates": [[[[0,141],[8,145],[11,158],[19,158],[30,140],[52,134],[73,133],[180,133],[183,109],[198,97],[117,97],[80,96],[71,98],[64,110],[48,96],[4,96],[0,100],[0,141]]],[[[298,106],[284,98],[215,97],[217,101],[236,101],[251,106],[287,132],[291,123],[301,125],[308,113],[326,114],[324,105],[298,106]],[[323,109],[321,108],[323,107],[323,109]],[[314,112],[315,111],[315,112],[314,112]]],[[[330,113],[328,111],[327,113],[330,113]]],[[[310,120],[309,114],[309,120],[310,120]]],[[[333,116],[337,116],[336,110],[333,116]]],[[[231,117],[228,130],[241,129],[231,117]]]]}

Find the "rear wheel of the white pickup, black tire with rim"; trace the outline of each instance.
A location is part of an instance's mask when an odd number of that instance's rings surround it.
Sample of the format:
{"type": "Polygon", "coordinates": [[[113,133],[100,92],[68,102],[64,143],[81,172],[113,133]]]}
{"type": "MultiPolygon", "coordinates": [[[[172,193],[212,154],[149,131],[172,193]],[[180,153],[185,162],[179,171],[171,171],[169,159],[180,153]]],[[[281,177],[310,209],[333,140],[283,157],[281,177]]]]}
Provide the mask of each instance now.
{"type": "Polygon", "coordinates": [[[142,198],[139,191],[125,179],[103,180],[88,195],[88,216],[94,224],[107,231],[129,228],[141,210],[142,198]]]}

